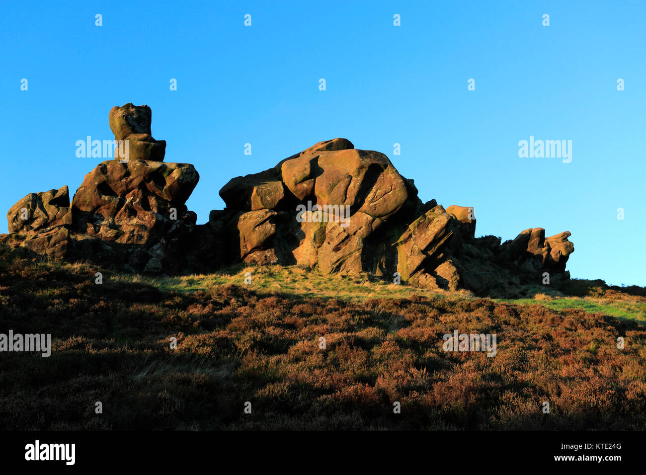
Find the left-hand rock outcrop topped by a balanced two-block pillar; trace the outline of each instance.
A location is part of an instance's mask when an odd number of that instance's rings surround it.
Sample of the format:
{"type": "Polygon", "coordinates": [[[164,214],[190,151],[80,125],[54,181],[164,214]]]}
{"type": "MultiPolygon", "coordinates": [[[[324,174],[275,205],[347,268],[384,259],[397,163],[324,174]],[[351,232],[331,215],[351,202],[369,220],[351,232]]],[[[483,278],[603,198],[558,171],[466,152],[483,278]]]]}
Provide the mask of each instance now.
{"type": "Polygon", "coordinates": [[[67,186],[25,196],[10,209],[10,234],[0,242],[130,272],[190,267],[187,249],[196,235],[209,235],[185,206],[200,176],[191,164],[163,162],[166,142],[152,138],[151,118],[147,105],[113,107],[114,160],[85,176],[71,205],[67,186]]]}

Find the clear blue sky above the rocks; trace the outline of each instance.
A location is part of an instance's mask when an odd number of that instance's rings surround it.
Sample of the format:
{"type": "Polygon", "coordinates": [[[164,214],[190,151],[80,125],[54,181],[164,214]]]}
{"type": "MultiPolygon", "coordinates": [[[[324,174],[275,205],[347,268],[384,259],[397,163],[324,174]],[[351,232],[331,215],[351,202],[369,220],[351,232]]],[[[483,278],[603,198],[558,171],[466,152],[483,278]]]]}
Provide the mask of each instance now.
{"type": "Polygon", "coordinates": [[[152,108],[165,161],[200,173],[198,223],[233,176],[344,137],[388,155],[422,201],[473,206],[477,235],[570,231],[572,277],[646,285],[643,1],[61,5],[0,16],[0,210],[74,193],[101,161],[76,141],[112,139],[110,108],[132,102],[152,108]],[[572,140],[572,162],[519,158],[530,136],[572,140]]]}

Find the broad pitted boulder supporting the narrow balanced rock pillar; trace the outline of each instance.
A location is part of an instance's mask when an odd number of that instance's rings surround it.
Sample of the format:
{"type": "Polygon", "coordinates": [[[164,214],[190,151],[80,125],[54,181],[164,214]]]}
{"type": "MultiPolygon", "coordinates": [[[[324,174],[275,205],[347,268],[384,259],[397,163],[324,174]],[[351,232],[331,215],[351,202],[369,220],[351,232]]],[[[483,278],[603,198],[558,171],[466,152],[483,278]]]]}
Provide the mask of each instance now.
{"type": "Polygon", "coordinates": [[[196,224],[185,202],[199,178],[190,164],[131,159],[97,165],[72,200],[78,257],[116,259],[152,273],[176,269],[196,224]]]}

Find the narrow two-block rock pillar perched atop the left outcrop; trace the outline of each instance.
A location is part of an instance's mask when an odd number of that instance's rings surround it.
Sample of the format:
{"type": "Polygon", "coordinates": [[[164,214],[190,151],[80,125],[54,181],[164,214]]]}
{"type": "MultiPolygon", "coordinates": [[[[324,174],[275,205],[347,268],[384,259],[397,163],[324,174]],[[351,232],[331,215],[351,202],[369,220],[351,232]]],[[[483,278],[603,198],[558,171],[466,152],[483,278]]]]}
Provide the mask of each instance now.
{"type": "Polygon", "coordinates": [[[136,106],[127,103],[121,107],[114,106],[109,115],[110,129],[118,145],[114,158],[130,160],[155,160],[162,162],[166,153],[165,140],[154,140],[151,136],[152,111],[147,105],[136,106]],[[129,155],[121,154],[125,150],[122,141],[128,141],[129,155]]]}

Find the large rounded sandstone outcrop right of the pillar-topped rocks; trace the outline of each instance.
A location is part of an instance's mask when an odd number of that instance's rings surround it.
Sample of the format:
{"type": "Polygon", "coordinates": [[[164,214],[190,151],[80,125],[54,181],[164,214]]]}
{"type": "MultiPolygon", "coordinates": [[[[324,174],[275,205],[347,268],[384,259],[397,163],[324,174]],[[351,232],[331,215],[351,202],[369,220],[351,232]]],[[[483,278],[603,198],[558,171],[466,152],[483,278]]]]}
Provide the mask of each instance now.
{"type": "Polygon", "coordinates": [[[220,195],[227,209],[243,215],[286,211],[286,224],[273,219],[272,226],[259,226],[264,232],[252,229],[265,213],[249,215],[253,224],[247,231],[236,225],[236,242],[241,242],[240,255],[247,262],[288,263],[289,254],[298,265],[328,273],[374,272],[390,278],[397,271],[404,282],[417,286],[457,290],[472,285],[490,291],[515,282],[508,271],[536,275],[548,260],[546,265],[554,268],[567,260],[569,249],[567,240],[555,237],[559,249],[552,257],[539,228],[524,231],[505,246],[495,237],[475,239],[472,207],[445,211],[435,200],[422,204],[413,180],[397,173],[386,156],[354,149],[344,139],[317,143],[273,169],[234,178],[220,195]],[[295,207],[305,203],[349,206],[347,226],[317,222],[309,212],[295,223],[295,207]],[[247,233],[251,243],[240,238],[247,233]],[[290,240],[293,246],[283,244],[290,240]]]}

